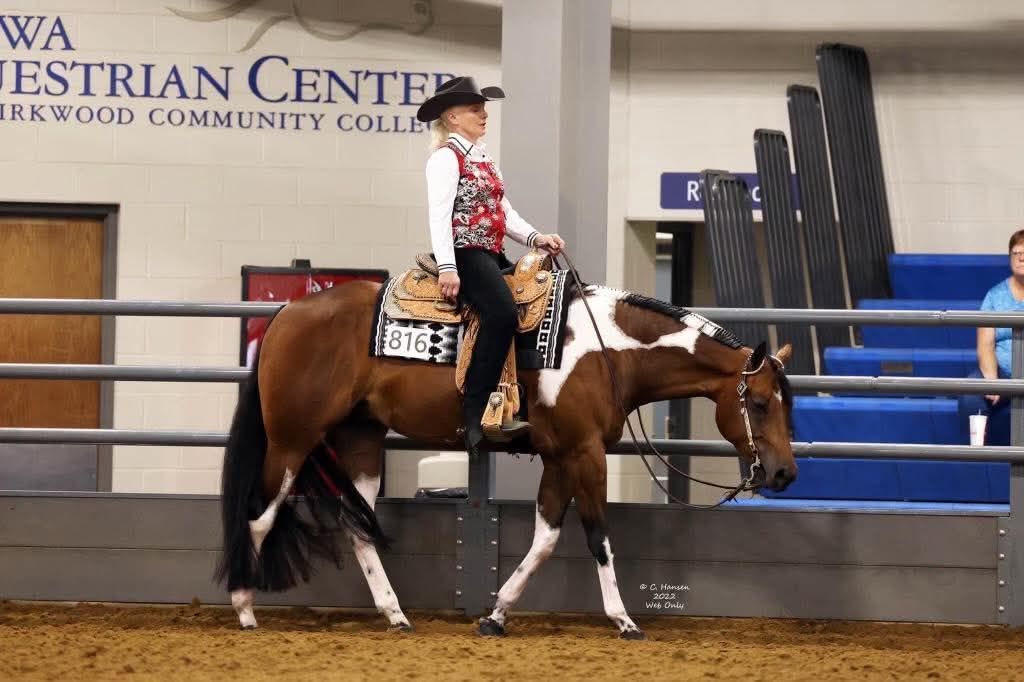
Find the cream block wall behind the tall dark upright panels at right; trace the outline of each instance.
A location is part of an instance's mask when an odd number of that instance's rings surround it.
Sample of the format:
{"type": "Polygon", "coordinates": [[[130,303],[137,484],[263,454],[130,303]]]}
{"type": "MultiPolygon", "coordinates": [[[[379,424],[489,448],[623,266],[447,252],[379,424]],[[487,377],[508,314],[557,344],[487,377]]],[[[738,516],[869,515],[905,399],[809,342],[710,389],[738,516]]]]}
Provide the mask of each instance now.
{"type": "Polygon", "coordinates": [[[786,86],[817,86],[815,46],[843,39],[871,62],[897,251],[1005,251],[1024,222],[1024,48],[983,37],[633,31],[628,144],[643,154],[630,156],[624,215],[701,220],[660,208],[660,173],[753,172],[754,130],[788,132],[786,86]]]}

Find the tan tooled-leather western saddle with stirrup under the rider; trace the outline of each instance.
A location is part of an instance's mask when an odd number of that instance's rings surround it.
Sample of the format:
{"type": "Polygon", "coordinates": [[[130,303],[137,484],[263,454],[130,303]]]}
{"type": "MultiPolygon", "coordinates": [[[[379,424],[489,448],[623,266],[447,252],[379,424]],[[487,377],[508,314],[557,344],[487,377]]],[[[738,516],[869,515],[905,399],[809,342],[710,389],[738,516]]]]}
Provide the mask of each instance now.
{"type": "MultiPolygon", "coordinates": [[[[456,387],[464,392],[466,370],[472,357],[473,345],[480,329],[476,312],[470,306],[462,308],[441,296],[437,282],[437,263],[430,254],[418,254],[415,267],[396,278],[395,286],[383,302],[384,312],[392,319],[418,319],[444,324],[465,324],[462,347],[456,365],[456,387]]],[[[540,326],[551,296],[554,276],[551,256],[531,251],[503,271],[518,310],[517,331],[531,332],[540,326]]],[[[480,424],[488,438],[500,440],[501,425],[519,412],[519,388],[516,379],[515,343],[509,347],[505,367],[490,394],[480,424]]]]}

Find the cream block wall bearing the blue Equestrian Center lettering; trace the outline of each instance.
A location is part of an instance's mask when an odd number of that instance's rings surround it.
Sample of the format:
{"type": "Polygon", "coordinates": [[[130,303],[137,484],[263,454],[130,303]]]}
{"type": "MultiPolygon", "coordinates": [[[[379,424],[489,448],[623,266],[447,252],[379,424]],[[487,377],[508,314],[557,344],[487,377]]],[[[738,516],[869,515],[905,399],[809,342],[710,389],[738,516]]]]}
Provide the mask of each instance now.
{"type": "MultiPolygon", "coordinates": [[[[430,79],[436,73],[468,72],[484,82],[499,80],[500,13],[495,8],[463,10],[435,0],[430,3],[433,26],[414,36],[409,31],[422,22],[415,4],[301,1],[295,6],[303,18],[325,32],[337,34],[366,22],[393,23],[398,28],[323,40],[292,17],[243,50],[262,22],[291,14],[293,3],[255,3],[234,16],[201,22],[168,8],[211,12],[223,10],[225,4],[4,2],[0,15],[47,17],[41,26],[44,36],[59,17],[58,33],[67,40],[58,36],[51,47],[72,48],[42,50],[36,44],[36,49],[24,45],[7,49],[10,46],[4,42],[4,59],[116,61],[136,70],[148,63],[155,65],[154,74],[177,67],[187,88],[194,87],[194,67],[205,67],[218,77],[221,68],[232,71],[226,101],[209,87],[206,100],[130,98],[123,96],[123,89],[122,96],[113,97],[105,92],[109,77],[100,78],[98,72],[94,96],[76,96],[82,83],[74,78],[69,79],[68,94],[48,96],[15,94],[17,84],[8,63],[0,86],[0,103],[7,106],[0,117],[0,202],[118,205],[117,296],[122,299],[238,300],[243,264],[288,265],[293,258],[309,258],[324,267],[391,271],[407,267],[414,253],[429,247],[423,176],[428,134],[344,131],[336,125],[337,117],[348,113],[380,115],[386,121],[399,117],[408,128],[416,105],[400,103],[406,94],[401,77],[385,81],[383,96],[390,104],[374,103],[376,77],[361,82],[356,104],[343,95],[335,103],[262,101],[250,91],[246,76],[256,59],[285,55],[291,69],[334,70],[346,77],[351,70],[377,70],[431,74],[430,79]],[[133,113],[134,122],[101,126],[11,120],[9,108],[15,103],[121,106],[133,113]],[[186,115],[209,110],[209,116],[272,112],[315,114],[323,119],[321,130],[313,129],[308,116],[299,130],[171,127],[147,120],[156,108],[179,109],[186,115]]],[[[290,89],[294,94],[295,79],[281,62],[271,62],[258,84],[268,95],[290,89]]],[[[325,82],[317,82],[315,91],[325,93],[325,82]]],[[[138,90],[140,86],[132,83],[138,90]]],[[[45,72],[22,85],[31,91],[37,84],[56,87],[45,72]]],[[[426,90],[433,87],[431,81],[426,90]]],[[[411,100],[418,102],[421,97],[414,90],[411,100]]],[[[500,117],[499,111],[495,114],[500,117]]],[[[500,130],[500,125],[492,127],[500,130]]],[[[498,139],[488,141],[488,148],[498,155],[498,139]]],[[[116,361],[237,365],[239,337],[238,319],[121,317],[116,361]]],[[[223,431],[230,423],[236,394],[233,385],[121,382],[115,388],[114,425],[223,431]]],[[[220,458],[217,449],[117,447],[114,489],[215,493],[220,458]]],[[[393,467],[389,486],[415,489],[415,459],[393,467]]]]}

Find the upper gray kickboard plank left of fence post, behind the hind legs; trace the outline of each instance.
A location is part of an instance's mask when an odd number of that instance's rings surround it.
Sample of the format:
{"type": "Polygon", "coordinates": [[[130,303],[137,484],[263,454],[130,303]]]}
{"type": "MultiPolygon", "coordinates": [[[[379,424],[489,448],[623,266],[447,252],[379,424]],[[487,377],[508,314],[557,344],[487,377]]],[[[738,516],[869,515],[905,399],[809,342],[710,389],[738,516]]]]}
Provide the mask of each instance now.
{"type": "MultiPolygon", "coordinates": [[[[0,547],[220,549],[217,498],[0,497],[0,547]]],[[[399,554],[455,553],[451,504],[378,501],[399,554]]]]}

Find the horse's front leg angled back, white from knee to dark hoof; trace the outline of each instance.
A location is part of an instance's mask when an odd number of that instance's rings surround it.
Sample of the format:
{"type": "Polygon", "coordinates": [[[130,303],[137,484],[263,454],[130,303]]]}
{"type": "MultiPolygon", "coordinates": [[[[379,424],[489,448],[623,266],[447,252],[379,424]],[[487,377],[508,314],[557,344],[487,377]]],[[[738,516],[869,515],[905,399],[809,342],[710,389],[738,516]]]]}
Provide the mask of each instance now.
{"type": "Polygon", "coordinates": [[[572,498],[567,483],[559,464],[545,460],[541,486],[537,494],[534,544],[522,562],[498,592],[495,610],[489,616],[480,619],[479,632],[481,635],[494,637],[505,634],[505,616],[508,614],[508,610],[518,601],[529,577],[554,551],[561,532],[565,509],[572,498]]]}

